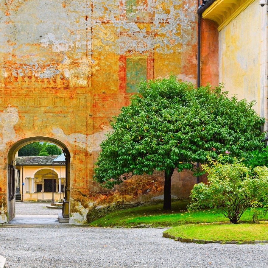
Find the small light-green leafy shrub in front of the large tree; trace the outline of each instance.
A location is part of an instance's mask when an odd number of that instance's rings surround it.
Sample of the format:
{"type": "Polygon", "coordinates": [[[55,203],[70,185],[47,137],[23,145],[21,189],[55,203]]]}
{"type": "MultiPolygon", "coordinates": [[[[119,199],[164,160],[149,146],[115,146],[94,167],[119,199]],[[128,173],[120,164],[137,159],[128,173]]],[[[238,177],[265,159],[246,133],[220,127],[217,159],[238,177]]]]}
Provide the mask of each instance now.
{"type": "Polygon", "coordinates": [[[215,161],[204,165],[208,184],[199,183],[191,190],[189,211],[204,207],[219,208],[232,223],[238,223],[248,207],[253,208],[253,219],[266,214],[268,208],[268,168],[250,167],[235,160],[232,164],[215,161]],[[260,212],[256,208],[263,207],[260,212]]]}

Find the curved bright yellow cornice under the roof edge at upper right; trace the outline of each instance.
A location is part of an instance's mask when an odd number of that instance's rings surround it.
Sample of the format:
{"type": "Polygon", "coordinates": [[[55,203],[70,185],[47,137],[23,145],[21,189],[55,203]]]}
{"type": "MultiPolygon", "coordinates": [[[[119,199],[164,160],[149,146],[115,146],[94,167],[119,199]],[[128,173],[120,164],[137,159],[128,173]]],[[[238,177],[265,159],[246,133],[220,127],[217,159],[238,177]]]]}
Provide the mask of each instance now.
{"type": "Polygon", "coordinates": [[[221,31],[255,0],[216,0],[204,12],[202,18],[216,21],[221,31]]]}

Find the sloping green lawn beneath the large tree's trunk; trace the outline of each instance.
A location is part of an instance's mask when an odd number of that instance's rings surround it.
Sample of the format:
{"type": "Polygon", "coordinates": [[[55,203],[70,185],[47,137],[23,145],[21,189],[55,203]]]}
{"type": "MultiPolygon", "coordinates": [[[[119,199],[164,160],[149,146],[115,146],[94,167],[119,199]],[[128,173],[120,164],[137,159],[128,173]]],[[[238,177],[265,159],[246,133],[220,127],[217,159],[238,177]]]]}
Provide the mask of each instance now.
{"type": "MultiPolygon", "coordinates": [[[[163,204],[139,206],[120,211],[114,211],[106,216],[91,222],[91,226],[137,226],[140,224],[151,224],[152,227],[170,227],[188,223],[209,223],[229,221],[217,209],[203,209],[189,213],[187,204],[189,200],[172,202],[172,210],[163,211],[163,204]]],[[[251,212],[248,209],[242,215],[242,221],[249,221],[251,212]]]]}

